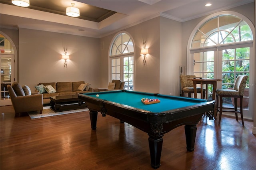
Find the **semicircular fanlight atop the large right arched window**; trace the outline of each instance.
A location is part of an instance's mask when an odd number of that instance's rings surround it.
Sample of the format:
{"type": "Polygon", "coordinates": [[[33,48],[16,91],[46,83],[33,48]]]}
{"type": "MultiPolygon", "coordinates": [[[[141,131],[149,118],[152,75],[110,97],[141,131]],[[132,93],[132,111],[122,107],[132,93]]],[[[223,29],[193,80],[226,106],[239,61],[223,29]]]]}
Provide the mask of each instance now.
{"type": "Polygon", "coordinates": [[[219,15],[205,22],[196,32],[191,48],[253,40],[252,31],[241,18],[219,15]]]}

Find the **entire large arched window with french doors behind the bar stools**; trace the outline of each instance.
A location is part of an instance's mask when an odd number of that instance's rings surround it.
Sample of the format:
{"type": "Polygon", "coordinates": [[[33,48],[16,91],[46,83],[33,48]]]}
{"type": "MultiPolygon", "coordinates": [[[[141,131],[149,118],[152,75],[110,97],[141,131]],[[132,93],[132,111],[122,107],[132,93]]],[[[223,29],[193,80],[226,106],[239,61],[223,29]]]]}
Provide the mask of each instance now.
{"type": "MultiPolygon", "coordinates": [[[[250,82],[254,80],[250,72],[253,64],[254,26],[241,14],[236,12],[221,12],[208,16],[200,22],[188,43],[187,73],[196,77],[218,78],[222,82],[217,88],[228,89],[234,86],[238,75],[248,75],[246,91],[250,90],[250,82]]],[[[208,98],[212,95],[212,85],[208,85],[208,98]]],[[[250,93],[249,93],[250,94],[250,93]]],[[[244,94],[246,95],[246,94],[244,94]]],[[[244,97],[250,101],[244,105],[244,115],[252,119],[253,96],[244,97]]],[[[232,105],[232,99],[226,98],[224,105],[232,105]]]]}

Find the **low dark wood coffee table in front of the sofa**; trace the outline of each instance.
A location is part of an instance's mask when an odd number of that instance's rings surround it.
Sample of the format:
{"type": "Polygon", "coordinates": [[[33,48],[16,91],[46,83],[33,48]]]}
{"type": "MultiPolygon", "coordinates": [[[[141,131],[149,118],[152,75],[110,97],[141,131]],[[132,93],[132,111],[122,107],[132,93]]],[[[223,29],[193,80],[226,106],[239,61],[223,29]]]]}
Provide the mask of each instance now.
{"type": "Polygon", "coordinates": [[[54,112],[87,108],[86,104],[82,100],[78,99],[78,95],[50,97],[50,105],[50,108],[54,112]]]}

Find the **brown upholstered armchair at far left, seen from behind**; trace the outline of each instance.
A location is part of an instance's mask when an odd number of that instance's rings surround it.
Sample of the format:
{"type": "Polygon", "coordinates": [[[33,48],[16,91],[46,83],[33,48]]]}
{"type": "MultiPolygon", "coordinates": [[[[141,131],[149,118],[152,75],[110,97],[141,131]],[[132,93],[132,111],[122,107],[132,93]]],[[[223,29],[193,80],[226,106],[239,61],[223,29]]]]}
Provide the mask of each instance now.
{"type": "Polygon", "coordinates": [[[43,111],[43,95],[38,92],[33,92],[31,95],[25,95],[22,87],[17,83],[12,83],[12,86],[7,85],[8,92],[15,111],[15,117],[20,116],[20,113],[30,111],[43,111]],[[23,92],[22,92],[23,91],[23,92]]]}

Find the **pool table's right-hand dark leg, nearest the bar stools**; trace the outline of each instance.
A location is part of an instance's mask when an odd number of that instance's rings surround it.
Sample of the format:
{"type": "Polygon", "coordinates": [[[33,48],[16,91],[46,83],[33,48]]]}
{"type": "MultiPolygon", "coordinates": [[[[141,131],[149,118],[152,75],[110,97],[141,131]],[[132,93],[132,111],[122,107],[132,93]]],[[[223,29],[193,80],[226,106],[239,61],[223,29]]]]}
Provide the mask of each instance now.
{"type": "Polygon", "coordinates": [[[190,152],[194,150],[196,129],[196,125],[185,125],[187,150],[190,152]]]}

